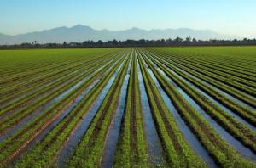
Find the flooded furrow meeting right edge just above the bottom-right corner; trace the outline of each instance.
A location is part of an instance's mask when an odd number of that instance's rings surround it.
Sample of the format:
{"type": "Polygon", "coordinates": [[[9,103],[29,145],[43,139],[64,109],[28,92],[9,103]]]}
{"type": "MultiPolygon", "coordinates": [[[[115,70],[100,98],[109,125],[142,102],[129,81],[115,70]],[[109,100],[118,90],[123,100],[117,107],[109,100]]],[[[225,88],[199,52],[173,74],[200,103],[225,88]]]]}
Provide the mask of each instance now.
{"type": "Polygon", "coordinates": [[[195,101],[192,98],[190,98],[186,92],[183,91],[183,89],[178,87],[177,84],[174,81],[172,81],[172,79],[166,76],[164,71],[160,70],[159,68],[158,70],[163,76],[166,77],[168,81],[172,83],[174,87],[177,88],[177,91],[183,95],[183,98],[185,98],[189,102],[189,104],[191,104],[203,116],[203,118],[207,120],[207,122],[212,126],[212,128],[216,132],[218,132],[218,134],[221,137],[223,137],[226,142],[230,143],[232,148],[235,148],[236,151],[238,151],[238,153],[240,153],[243,157],[249,160],[256,160],[256,155],[253,154],[253,152],[249,148],[245,147],[242,143],[237,141],[236,138],[232,137],[230,133],[226,132],[222,126],[219,126],[215,120],[212,120],[212,118],[209,115],[207,115],[207,113],[203,109],[201,109],[201,107],[198,104],[196,104],[195,101]]]}

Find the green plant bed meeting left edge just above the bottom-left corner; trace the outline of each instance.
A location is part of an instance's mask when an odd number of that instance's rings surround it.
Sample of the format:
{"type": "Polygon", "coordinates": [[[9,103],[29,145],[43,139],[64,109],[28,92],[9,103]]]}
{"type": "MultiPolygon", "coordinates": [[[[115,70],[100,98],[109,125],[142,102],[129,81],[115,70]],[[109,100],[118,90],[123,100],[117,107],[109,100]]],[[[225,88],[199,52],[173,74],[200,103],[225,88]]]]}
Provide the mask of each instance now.
{"type": "Polygon", "coordinates": [[[49,126],[54,120],[56,120],[66,109],[68,109],[76,98],[79,97],[90,84],[96,80],[96,77],[100,76],[100,72],[91,76],[88,81],[85,81],[83,85],[68,93],[65,97],[61,98],[56,104],[50,107],[44,114],[38,115],[37,118],[26,123],[26,126],[20,128],[14,135],[5,139],[0,143],[0,163],[5,165],[14,158],[17,152],[29,145],[41,132],[43,132],[47,126],[49,126]]]}

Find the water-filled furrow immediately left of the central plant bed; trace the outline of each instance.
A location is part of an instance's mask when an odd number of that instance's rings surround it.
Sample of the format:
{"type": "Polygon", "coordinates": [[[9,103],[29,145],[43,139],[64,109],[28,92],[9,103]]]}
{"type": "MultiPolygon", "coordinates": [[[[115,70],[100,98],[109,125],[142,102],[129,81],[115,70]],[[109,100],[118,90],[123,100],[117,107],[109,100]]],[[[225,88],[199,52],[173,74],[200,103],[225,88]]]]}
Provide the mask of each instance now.
{"type": "Polygon", "coordinates": [[[123,86],[121,87],[121,92],[119,95],[119,104],[118,104],[116,113],[113,116],[112,124],[108,130],[108,137],[107,137],[105,148],[102,154],[101,167],[112,167],[113,165],[113,156],[117,148],[121,121],[125,111],[125,98],[126,98],[128,82],[130,78],[131,60],[129,63],[129,67],[126,71],[125,81],[123,83],[123,86]]]}

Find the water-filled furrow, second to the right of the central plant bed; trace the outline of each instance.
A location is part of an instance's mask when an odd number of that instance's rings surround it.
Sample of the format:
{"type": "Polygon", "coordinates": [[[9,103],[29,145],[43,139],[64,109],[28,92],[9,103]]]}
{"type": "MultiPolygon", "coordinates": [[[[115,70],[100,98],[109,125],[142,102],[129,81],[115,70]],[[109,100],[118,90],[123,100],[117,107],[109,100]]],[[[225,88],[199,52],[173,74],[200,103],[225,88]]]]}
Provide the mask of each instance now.
{"type": "MultiPolygon", "coordinates": [[[[160,86],[160,83],[154,76],[153,71],[148,69],[148,72],[149,72],[150,76],[152,77],[154,84],[159,89],[160,95],[164,99],[169,111],[172,113],[172,116],[176,120],[179,130],[183,133],[183,137],[189,143],[190,147],[195,150],[196,154],[201,156],[201,158],[207,163],[207,165],[209,167],[217,167],[217,165],[213,161],[212,157],[209,156],[209,154],[207,153],[207,150],[205,148],[203,148],[203,146],[198,141],[198,139],[195,137],[193,132],[191,132],[189,127],[185,124],[182,117],[178,114],[177,109],[175,109],[174,105],[172,104],[172,100],[167,96],[166,92],[160,86]]],[[[180,89],[178,89],[178,90],[180,90],[180,89]]]]}

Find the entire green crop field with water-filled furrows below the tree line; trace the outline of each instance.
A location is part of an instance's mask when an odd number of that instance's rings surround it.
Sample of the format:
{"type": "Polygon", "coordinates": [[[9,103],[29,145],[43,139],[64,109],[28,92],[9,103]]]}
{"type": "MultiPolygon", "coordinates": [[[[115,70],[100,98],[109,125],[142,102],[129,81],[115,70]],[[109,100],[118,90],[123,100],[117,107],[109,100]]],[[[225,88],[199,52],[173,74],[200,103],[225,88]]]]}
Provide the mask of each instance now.
{"type": "Polygon", "coordinates": [[[256,47],[1,50],[0,167],[256,167],[256,47]]]}

